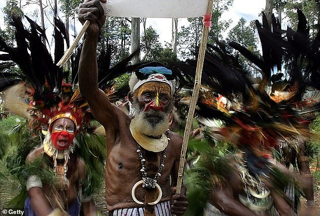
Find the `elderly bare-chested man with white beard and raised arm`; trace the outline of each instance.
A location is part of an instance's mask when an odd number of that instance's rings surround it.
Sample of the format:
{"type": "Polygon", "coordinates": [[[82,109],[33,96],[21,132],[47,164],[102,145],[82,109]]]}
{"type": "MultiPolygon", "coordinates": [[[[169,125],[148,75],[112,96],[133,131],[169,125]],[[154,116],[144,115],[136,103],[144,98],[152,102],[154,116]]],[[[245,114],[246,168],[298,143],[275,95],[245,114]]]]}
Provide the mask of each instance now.
{"type": "Polygon", "coordinates": [[[90,21],[79,64],[79,87],[105,129],[109,215],[182,215],[188,205],[186,188],[175,194],[182,137],[168,129],[175,90],[172,70],[151,63],[135,71],[128,95],[135,112],[128,116],[110,103],[97,84],[97,40],[104,23],[100,4],[85,1],[79,20],[90,21]]]}

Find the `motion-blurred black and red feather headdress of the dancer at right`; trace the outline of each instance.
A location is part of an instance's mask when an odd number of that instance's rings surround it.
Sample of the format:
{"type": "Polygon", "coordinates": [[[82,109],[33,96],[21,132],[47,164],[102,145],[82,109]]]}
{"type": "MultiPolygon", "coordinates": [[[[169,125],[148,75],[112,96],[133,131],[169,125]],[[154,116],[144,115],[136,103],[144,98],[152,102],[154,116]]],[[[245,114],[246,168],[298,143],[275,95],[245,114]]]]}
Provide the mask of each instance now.
{"type": "MultiPolygon", "coordinates": [[[[305,17],[300,11],[298,17],[297,32],[287,30],[285,38],[281,36],[285,31],[275,26],[275,18],[273,32],[256,21],[262,43],[262,59],[236,42],[230,43],[260,68],[262,81],[256,86],[247,78],[237,57],[233,57],[220,42],[217,46],[208,46],[202,75],[202,89],[205,91],[200,93],[197,114],[204,118],[218,118],[224,122],[223,127],[210,128],[211,136],[229,139],[236,145],[263,145],[266,148],[276,146],[279,136],[300,135],[305,139],[309,138],[310,133],[305,124],[314,119],[314,115],[308,114],[318,110],[319,103],[318,99],[314,98],[317,91],[310,94],[305,93],[305,89],[307,86],[319,88],[316,79],[320,69],[316,60],[319,59],[319,42],[318,36],[313,42],[309,40],[305,17]],[[302,61],[303,58],[307,61],[302,61]],[[281,69],[283,59],[290,63],[290,78],[282,85],[287,93],[281,95],[281,100],[274,100],[275,95],[269,96],[265,87],[270,80],[280,80],[281,74],[271,77],[271,71],[274,65],[278,66],[278,70],[281,69]],[[302,64],[305,62],[307,67],[303,70],[302,64]],[[311,77],[310,81],[306,81],[308,79],[305,75],[311,77]],[[227,113],[226,110],[221,112],[218,109],[221,106],[221,95],[233,102],[227,113]],[[312,103],[306,103],[307,95],[312,95],[312,103]]],[[[186,68],[187,73],[194,74],[195,63],[194,60],[187,60],[183,68],[186,68]]]]}

